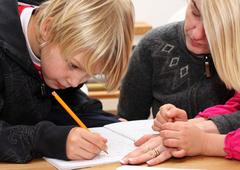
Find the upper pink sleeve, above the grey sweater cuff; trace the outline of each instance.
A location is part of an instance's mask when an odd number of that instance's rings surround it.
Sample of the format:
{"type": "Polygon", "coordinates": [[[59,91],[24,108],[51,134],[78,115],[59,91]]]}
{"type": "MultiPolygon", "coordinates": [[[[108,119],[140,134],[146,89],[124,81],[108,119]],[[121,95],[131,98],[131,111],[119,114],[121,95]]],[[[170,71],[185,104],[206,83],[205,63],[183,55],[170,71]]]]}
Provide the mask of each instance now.
{"type": "Polygon", "coordinates": [[[229,114],[237,110],[240,110],[240,92],[236,92],[224,105],[209,107],[203,112],[199,112],[196,117],[209,118],[216,115],[229,114]]]}

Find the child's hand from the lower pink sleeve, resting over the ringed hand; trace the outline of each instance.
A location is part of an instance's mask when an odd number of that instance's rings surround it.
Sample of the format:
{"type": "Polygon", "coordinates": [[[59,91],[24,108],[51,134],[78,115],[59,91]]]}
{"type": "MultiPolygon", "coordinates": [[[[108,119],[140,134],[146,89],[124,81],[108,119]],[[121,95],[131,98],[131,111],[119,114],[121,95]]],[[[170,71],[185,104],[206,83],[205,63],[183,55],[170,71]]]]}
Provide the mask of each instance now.
{"type": "Polygon", "coordinates": [[[176,148],[174,157],[195,156],[203,154],[206,144],[206,133],[189,122],[165,123],[160,132],[163,144],[176,148]]]}

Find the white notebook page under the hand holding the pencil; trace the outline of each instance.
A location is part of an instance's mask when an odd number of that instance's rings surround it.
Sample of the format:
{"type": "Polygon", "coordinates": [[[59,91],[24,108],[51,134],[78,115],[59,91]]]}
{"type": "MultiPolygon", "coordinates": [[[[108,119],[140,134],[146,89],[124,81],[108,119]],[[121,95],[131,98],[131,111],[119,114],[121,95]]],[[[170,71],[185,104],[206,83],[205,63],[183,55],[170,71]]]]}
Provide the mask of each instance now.
{"type": "Polygon", "coordinates": [[[69,170],[117,162],[126,154],[135,149],[135,146],[131,140],[113,133],[112,131],[109,131],[103,127],[90,128],[90,131],[99,133],[108,140],[108,154],[101,152],[100,155],[92,160],[81,161],[63,161],[51,158],[45,159],[58,169],[69,170]],[[119,145],[122,147],[119,147],[119,145]]]}

